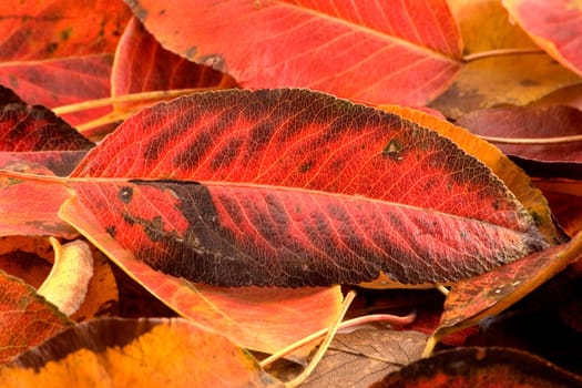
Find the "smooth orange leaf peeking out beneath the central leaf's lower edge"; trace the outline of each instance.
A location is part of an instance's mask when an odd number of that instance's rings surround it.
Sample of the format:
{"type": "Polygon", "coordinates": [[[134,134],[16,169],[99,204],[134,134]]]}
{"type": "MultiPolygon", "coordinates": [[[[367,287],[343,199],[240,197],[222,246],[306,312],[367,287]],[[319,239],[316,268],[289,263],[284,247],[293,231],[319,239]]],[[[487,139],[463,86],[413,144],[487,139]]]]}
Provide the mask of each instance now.
{"type": "MultiPolygon", "coordinates": [[[[227,337],[238,346],[275,353],[323,328],[341,306],[338,286],[328,288],[212,287],[164,275],[137,261],[108,232],[94,215],[72,198],[60,215],[90,236],[125,273],[149,292],[196,325],[227,337]],[[300,323],[300,325],[297,325],[300,323]]],[[[306,356],[305,350],[296,353],[306,356]]]]}

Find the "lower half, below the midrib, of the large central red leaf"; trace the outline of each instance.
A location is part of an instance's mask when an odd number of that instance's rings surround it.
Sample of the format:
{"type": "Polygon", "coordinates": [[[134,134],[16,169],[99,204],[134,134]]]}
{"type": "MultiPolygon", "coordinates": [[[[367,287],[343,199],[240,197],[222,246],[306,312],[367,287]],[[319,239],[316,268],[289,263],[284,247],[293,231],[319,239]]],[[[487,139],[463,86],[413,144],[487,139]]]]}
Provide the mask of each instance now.
{"type": "Polygon", "coordinates": [[[380,270],[405,284],[445,283],[543,246],[528,233],[366,198],[253,185],[132,182],[73,187],[137,258],[213,285],[355,284],[377,278],[380,270]]]}

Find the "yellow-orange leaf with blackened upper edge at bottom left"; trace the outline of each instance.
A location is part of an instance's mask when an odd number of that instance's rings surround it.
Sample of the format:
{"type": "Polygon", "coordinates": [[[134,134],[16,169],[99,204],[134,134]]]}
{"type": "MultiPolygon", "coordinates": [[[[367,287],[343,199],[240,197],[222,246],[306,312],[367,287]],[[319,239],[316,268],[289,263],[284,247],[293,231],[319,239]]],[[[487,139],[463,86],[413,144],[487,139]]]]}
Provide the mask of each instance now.
{"type": "Polygon", "coordinates": [[[246,350],[176,318],[79,324],[0,368],[0,384],[282,387],[246,350]]]}

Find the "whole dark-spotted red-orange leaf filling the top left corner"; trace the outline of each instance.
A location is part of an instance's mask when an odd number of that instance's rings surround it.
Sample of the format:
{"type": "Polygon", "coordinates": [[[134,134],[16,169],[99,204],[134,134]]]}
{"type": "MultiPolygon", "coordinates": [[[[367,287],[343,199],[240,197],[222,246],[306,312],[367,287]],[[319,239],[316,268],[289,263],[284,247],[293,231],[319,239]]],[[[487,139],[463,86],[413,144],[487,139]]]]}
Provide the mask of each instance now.
{"type": "MultiPolygon", "coordinates": [[[[120,1],[7,0],[0,18],[0,84],[54,108],[110,95],[112,53],[131,17],[120,1]]],[[[68,115],[73,124],[105,110],[68,115]]]]}

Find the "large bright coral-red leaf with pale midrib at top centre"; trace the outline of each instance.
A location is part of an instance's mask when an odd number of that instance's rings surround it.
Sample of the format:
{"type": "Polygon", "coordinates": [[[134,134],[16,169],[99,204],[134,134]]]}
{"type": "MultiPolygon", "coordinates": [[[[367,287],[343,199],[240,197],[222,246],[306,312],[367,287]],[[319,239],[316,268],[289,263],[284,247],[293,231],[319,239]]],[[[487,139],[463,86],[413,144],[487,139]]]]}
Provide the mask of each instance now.
{"type": "Polygon", "coordinates": [[[251,89],[303,86],[372,104],[421,105],[461,68],[443,0],[127,0],[169,50],[251,89]]]}

